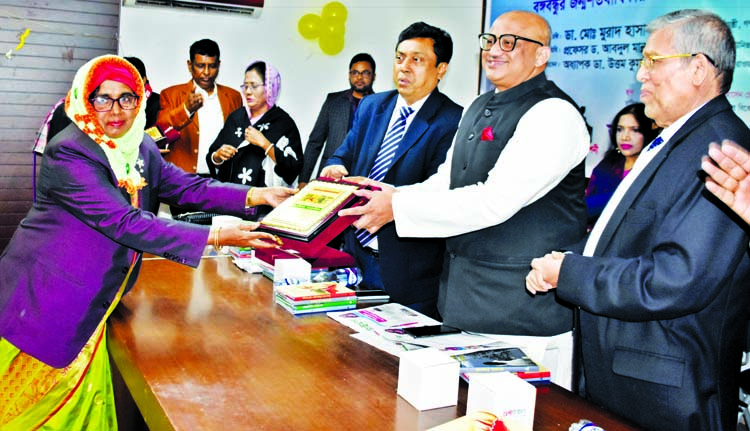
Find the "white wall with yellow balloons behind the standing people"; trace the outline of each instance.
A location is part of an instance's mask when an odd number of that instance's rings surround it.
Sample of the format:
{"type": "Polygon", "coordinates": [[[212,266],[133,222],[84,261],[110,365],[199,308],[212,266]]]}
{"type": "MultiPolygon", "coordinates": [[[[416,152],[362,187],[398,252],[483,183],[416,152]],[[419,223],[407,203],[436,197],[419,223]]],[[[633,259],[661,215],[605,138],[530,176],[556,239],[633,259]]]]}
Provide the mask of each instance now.
{"type": "Polygon", "coordinates": [[[358,52],[377,63],[375,91],[394,88],[393,52],[398,34],[415,21],[443,28],[453,38],[453,58],[440,90],[464,107],[476,97],[479,76],[477,34],[482,29],[482,0],[339,0],[348,11],[344,50],[335,56],[302,38],[297,21],[320,14],[329,0],[266,0],[258,18],[184,9],[123,6],[120,55],[146,64],[156,91],[190,79],[190,45],[215,40],[221,49],[218,82],[237,88],[254,59],[269,61],[281,73],[278,105],[297,122],[302,140],[315,123],[325,95],[348,88],[348,65],[358,52]]]}

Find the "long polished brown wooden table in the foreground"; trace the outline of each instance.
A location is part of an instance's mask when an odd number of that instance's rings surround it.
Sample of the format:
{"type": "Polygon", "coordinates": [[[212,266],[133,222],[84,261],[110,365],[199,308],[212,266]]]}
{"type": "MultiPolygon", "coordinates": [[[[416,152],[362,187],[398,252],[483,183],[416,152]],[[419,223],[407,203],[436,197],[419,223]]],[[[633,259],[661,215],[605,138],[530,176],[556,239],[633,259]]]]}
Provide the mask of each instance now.
{"type": "MultiPolygon", "coordinates": [[[[228,257],[197,270],[143,262],[110,319],[109,349],[148,427],[156,430],[422,430],[465,413],[420,412],[396,395],[398,359],[325,314],[294,317],[272,286],[228,257]]],[[[560,387],[537,394],[535,430],[587,418],[633,430],[560,387]]]]}

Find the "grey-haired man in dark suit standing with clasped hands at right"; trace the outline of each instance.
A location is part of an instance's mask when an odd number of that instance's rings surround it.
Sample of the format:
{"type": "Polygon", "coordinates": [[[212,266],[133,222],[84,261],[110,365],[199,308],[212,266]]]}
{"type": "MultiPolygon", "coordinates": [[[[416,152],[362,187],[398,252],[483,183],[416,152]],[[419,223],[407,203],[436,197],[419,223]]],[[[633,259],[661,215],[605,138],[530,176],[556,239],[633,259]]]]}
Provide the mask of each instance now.
{"type": "Polygon", "coordinates": [[[637,78],[646,115],[664,130],[575,247],[582,254],[534,259],[527,289],[556,287],[580,308],[588,398],[650,430],[735,429],[748,236],[699,175],[709,142],[750,145],[725,97],[735,42],[721,18],[698,10],[647,31],[637,78]]]}

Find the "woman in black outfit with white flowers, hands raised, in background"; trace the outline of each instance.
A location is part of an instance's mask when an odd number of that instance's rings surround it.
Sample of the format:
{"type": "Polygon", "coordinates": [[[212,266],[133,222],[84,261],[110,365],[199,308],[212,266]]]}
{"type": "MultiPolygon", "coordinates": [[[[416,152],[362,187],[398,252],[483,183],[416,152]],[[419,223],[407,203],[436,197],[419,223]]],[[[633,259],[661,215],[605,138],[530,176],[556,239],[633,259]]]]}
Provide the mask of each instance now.
{"type": "Polygon", "coordinates": [[[302,141],[292,117],[276,105],[279,72],[254,61],[241,89],[245,106],[229,114],[206,156],[211,175],[256,187],[293,185],[302,171],[302,141]]]}

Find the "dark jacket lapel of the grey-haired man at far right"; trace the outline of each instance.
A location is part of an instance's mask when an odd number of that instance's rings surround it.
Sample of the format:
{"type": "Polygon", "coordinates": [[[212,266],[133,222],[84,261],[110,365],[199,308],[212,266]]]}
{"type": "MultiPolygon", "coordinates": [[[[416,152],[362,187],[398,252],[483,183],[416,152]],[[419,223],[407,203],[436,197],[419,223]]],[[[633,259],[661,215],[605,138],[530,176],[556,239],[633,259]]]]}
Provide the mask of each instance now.
{"type": "MultiPolygon", "coordinates": [[[[701,125],[703,122],[716,115],[720,111],[723,111],[727,107],[729,107],[729,104],[726,101],[726,98],[724,98],[723,96],[711,100],[704,107],[693,114],[693,116],[690,117],[682,127],[680,127],[677,133],[675,133],[674,136],[672,136],[669,141],[664,144],[666,145],[666,147],[659,151],[656,156],[654,156],[654,158],[648,163],[643,171],[638,174],[638,177],[635,179],[635,181],[633,181],[633,184],[630,185],[628,191],[625,192],[625,195],[617,205],[617,209],[615,209],[615,211],[612,213],[612,217],[610,217],[609,221],[607,222],[607,226],[602,231],[601,237],[596,244],[596,249],[594,250],[594,256],[601,256],[604,253],[604,250],[607,249],[610,241],[612,240],[612,237],[617,231],[617,228],[625,218],[625,214],[627,214],[628,209],[630,209],[636,198],[638,198],[638,196],[640,196],[640,194],[646,189],[646,186],[651,183],[651,179],[656,174],[656,171],[659,170],[659,166],[661,166],[662,163],[667,160],[672,151],[674,151],[674,149],[679,146],[685,140],[685,138],[690,133],[692,133],[693,130],[695,130],[699,125],[701,125]]],[[[708,142],[706,142],[706,145],[708,145],[708,142]]],[[[698,165],[700,164],[700,161],[697,161],[696,163],[698,165]]]]}

